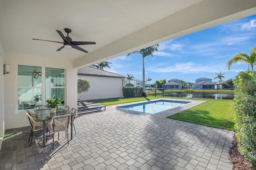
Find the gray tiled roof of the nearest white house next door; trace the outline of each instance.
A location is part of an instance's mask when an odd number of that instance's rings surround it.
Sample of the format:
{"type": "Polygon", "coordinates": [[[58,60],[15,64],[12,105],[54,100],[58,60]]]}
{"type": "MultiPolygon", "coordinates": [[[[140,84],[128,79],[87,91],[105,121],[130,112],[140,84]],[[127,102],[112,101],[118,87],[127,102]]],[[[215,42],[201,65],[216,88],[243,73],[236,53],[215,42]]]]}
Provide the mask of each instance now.
{"type": "Polygon", "coordinates": [[[84,75],[84,76],[100,76],[100,77],[116,77],[116,78],[124,78],[124,76],[121,76],[119,74],[115,74],[112,72],[108,72],[105,70],[100,70],[98,68],[94,68],[92,66],[86,66],[83,68],[77,69],[78,75],[84,75]]]}

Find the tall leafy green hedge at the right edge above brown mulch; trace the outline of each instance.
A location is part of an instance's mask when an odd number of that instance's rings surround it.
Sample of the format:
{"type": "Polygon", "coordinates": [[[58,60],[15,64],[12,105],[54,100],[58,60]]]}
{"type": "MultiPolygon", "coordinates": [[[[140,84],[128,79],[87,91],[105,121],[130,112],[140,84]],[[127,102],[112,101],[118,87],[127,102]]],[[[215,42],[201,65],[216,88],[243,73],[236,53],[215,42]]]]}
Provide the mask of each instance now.
{"type": "Polygon", "coordinates": [[[256,169],[256,71],[240,72],[234,84],[238,149],[256,169]]]}

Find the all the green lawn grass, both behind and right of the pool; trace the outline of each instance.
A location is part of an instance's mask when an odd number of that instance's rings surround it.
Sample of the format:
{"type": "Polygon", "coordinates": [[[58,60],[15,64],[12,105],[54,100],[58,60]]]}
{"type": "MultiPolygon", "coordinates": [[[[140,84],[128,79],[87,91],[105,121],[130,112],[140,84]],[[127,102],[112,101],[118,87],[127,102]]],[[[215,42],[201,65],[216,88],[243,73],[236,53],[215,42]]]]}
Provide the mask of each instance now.
{"type": "MultiPolygon", "coordinates": [[[[134,97],[134,98],[113,98],[89,100],[87,102],[100,103],[105,106],[152,100],[160,97],[134,97]]],[[[196,99],[198,100],[198,99],[196,99]]],[[[190,109],[168,116],[170,119],[186,121],[194,124],[216,127],[220,129],[234,130],[235,119],[233,101],[226,100],[206,100],[206,102],[194,106],[190,109]]]]}

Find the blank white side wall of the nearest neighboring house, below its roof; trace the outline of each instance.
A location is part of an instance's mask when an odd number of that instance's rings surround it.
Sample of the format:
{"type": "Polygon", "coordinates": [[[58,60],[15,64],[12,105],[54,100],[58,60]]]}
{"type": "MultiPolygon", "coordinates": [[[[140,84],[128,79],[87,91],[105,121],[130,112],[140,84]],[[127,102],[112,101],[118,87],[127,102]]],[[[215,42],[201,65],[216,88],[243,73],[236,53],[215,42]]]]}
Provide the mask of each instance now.
{"type": "Polygon", "coordinates": [[[78,94],[80,100],[122,98],[122,78],[81,75],[78,78],[85,78],[91,85],[88,92],[78,94]]]}

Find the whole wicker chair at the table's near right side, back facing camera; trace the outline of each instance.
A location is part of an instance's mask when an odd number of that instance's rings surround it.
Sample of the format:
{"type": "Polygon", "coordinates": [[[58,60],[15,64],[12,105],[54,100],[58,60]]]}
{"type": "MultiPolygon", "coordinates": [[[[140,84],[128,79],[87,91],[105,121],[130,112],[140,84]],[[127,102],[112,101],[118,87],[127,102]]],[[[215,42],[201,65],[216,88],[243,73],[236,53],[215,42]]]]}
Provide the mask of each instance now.
{"type": "MultiPolygon", "coordinates": [[[[52,117],[50,122],[47,122],[47,127],[49,129],[49,133],[52,134],[52,149],[54,149],[54,133],[58,132],[58,139],[59,133],[62,131],[68,132],[68,126],[71,120],[70,114],[54,116],[52,117]]],[[[47,142],[47,135],[46,135],[46,142],[47,142]]]]}

